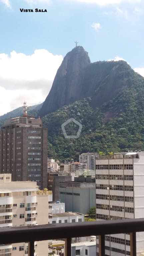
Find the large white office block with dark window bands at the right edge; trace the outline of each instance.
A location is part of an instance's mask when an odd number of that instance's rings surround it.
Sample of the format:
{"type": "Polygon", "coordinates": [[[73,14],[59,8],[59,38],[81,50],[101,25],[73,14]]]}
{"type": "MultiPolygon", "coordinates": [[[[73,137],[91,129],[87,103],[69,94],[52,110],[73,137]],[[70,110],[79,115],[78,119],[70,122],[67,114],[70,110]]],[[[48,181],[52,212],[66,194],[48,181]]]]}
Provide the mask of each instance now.
{"type": "MultiPolygon", "coordinates": [[[[144,217],[143,170],[144,152],[115,153],[96,160],[97,221],[144,217]]],[[[137,256],[144,253],[144,232],[136,235],[136,249],[137,256]]],[[[105,255],[131,255],[130,235],[106,235],[105,255]]]]}

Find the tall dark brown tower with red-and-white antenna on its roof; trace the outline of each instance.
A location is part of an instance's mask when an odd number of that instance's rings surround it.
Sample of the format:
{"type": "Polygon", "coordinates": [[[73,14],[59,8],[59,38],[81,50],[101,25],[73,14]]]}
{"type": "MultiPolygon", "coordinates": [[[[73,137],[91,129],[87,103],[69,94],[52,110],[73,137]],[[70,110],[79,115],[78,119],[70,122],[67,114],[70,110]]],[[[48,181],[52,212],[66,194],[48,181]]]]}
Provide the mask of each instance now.
{"type": "Polygon", "coordinates": [[[47,187],[47,128],[32,116],[4,121],[0,131],[0,173],[12,181],[36,181],[47,187]]]}

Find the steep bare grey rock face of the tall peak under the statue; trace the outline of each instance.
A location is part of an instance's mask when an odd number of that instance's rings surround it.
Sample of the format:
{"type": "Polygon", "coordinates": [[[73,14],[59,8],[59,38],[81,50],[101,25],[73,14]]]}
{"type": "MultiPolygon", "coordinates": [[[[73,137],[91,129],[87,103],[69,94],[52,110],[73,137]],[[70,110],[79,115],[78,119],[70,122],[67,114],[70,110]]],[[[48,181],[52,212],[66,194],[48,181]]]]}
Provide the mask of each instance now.
{"type": "Polygon", "coordinates": [[[84,77],[84,70],[89,64],[90,58],[82,46],[77,46],[67,53],[43,103],[40,116],[82,99],[81,80],[84,77]]]}

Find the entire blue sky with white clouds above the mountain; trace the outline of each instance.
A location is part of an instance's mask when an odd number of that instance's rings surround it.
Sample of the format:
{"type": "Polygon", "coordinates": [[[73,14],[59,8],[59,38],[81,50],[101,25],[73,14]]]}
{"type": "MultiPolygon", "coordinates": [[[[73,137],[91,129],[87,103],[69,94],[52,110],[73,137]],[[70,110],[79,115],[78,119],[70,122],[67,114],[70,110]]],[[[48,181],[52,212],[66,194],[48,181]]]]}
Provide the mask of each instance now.
{"type": "Polygon", "coordinates": [[[75,41],[144,76],[143,24],[144,0],[0,0],[0,115],[43,102],[75,41]]]}

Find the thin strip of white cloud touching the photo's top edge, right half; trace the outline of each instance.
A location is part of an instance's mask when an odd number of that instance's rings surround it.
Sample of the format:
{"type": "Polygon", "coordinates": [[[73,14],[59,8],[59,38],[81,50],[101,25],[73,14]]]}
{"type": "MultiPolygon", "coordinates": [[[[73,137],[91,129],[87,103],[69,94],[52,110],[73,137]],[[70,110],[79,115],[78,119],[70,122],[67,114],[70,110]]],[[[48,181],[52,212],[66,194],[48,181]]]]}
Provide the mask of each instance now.
{"type": "Polygon", "coordinates": [[[142,0],[77,0],[84,3],[95,3],[100,6],[119,3],[141,3],[142,0]]]}

